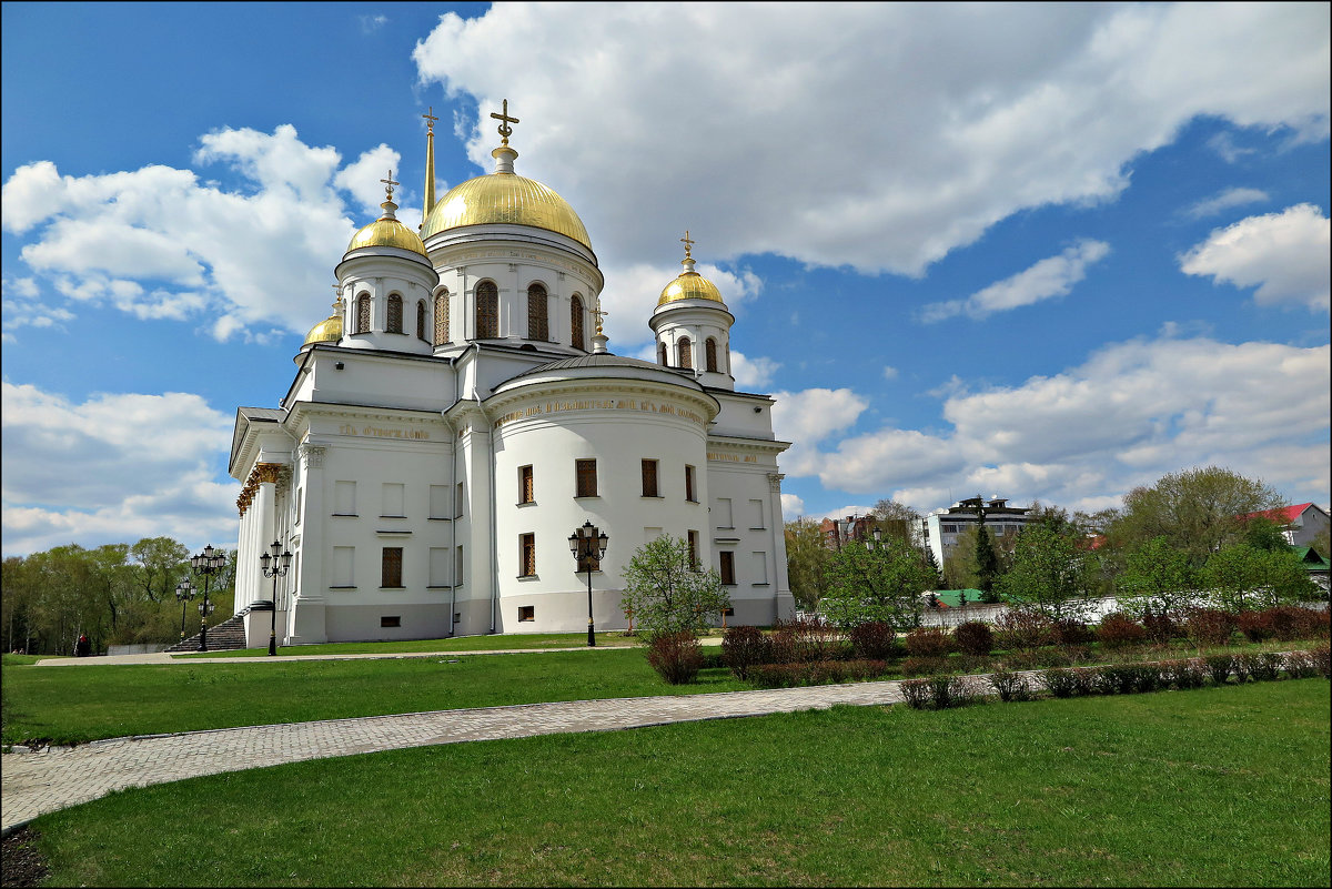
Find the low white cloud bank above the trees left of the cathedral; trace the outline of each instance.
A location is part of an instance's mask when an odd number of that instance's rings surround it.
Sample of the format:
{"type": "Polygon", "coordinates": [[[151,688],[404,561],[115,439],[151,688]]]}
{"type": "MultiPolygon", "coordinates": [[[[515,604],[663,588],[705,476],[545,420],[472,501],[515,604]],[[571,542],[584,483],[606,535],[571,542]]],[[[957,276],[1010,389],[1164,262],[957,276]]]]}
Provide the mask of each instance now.
{"type": "Polygon", "coordinates": [[[214,480],[232,417],[198,395],[75,403],[5,382],[0,410],[5,555],[180,536],[184,527],[221,544],[236,534],[234,486],[214,480]]]}

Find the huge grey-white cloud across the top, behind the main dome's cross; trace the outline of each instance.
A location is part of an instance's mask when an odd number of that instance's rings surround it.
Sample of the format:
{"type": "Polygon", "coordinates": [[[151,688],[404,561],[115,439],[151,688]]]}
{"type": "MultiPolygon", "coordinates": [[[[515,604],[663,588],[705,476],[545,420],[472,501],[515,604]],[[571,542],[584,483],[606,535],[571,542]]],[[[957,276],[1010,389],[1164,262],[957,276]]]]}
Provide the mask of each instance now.
{"type": "Polygon", "coordinates": [[[918,275],[1018,210],[1112,200],[1197,116],[1324,137],[1328,20],[1324,4],[509,3],[444,15],[414,60],[477,98],[485,126],[460,132],[484,169],[488,113],[510,100],[519,172],[558,182],[607,256],[653,261],[707,220],[705,258],[918,275]]]}

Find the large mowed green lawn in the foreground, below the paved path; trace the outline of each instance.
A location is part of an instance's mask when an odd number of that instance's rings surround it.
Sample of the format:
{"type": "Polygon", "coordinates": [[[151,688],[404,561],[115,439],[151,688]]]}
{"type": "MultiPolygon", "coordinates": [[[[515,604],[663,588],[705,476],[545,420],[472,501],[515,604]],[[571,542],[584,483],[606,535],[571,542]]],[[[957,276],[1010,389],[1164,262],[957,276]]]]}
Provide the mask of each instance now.
{"type": "Polygon", "coordinates": [[[33,822],[51,885],[1328,885],[1328,683],[376,753],[33,822]]]}

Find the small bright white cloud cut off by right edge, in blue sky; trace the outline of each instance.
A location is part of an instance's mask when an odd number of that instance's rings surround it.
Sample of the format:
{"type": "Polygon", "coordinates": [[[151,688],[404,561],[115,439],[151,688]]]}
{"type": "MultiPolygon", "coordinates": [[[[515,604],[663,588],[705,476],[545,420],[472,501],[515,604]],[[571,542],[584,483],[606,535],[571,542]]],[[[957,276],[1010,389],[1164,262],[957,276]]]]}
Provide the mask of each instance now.
{"type": "Polygon", "coordinates": [[[1283,213],[1251,216],[1216,229],[1179,260],[1184,274],[1209,275],[1216,283],[1257,287],[1259,305],[1304,303],[1327,309],[1332,228],[1312,204],[1283,213]]]}

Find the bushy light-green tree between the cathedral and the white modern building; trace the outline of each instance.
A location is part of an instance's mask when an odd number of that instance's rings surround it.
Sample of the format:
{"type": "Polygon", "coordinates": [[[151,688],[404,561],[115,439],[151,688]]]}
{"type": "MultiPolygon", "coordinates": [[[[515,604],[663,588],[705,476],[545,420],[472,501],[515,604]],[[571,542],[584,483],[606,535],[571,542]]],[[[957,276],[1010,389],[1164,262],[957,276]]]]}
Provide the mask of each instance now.
{"type": "Polygon", "coordinates": [[[850,629],[882,620],[919,627],[922,594],[934,587],[935,572],[918,547],[883,540],[872,547],[842,547],[829,563],[829,580],[821,610],[834,624],[850,629]]]}

